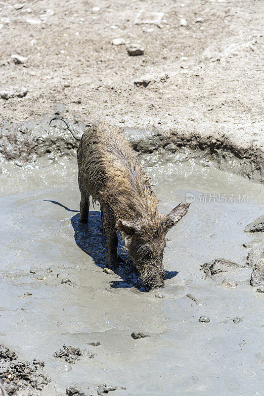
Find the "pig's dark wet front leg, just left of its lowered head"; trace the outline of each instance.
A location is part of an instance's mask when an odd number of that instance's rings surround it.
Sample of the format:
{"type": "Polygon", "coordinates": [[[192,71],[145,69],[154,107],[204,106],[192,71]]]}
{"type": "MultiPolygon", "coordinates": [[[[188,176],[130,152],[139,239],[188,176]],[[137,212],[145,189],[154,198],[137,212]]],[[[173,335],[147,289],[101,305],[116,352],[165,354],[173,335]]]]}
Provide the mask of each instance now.
{"type": "Polygon", "coordinates": [[[106,258],[105,266],[115,270],[118,267],[117,259],[117,246],[118,238],[116,234],[115,223],[113,222],[111,215],[107,210],[101,208],[103,218],[103,231],[106,239],[106,258]]]}

